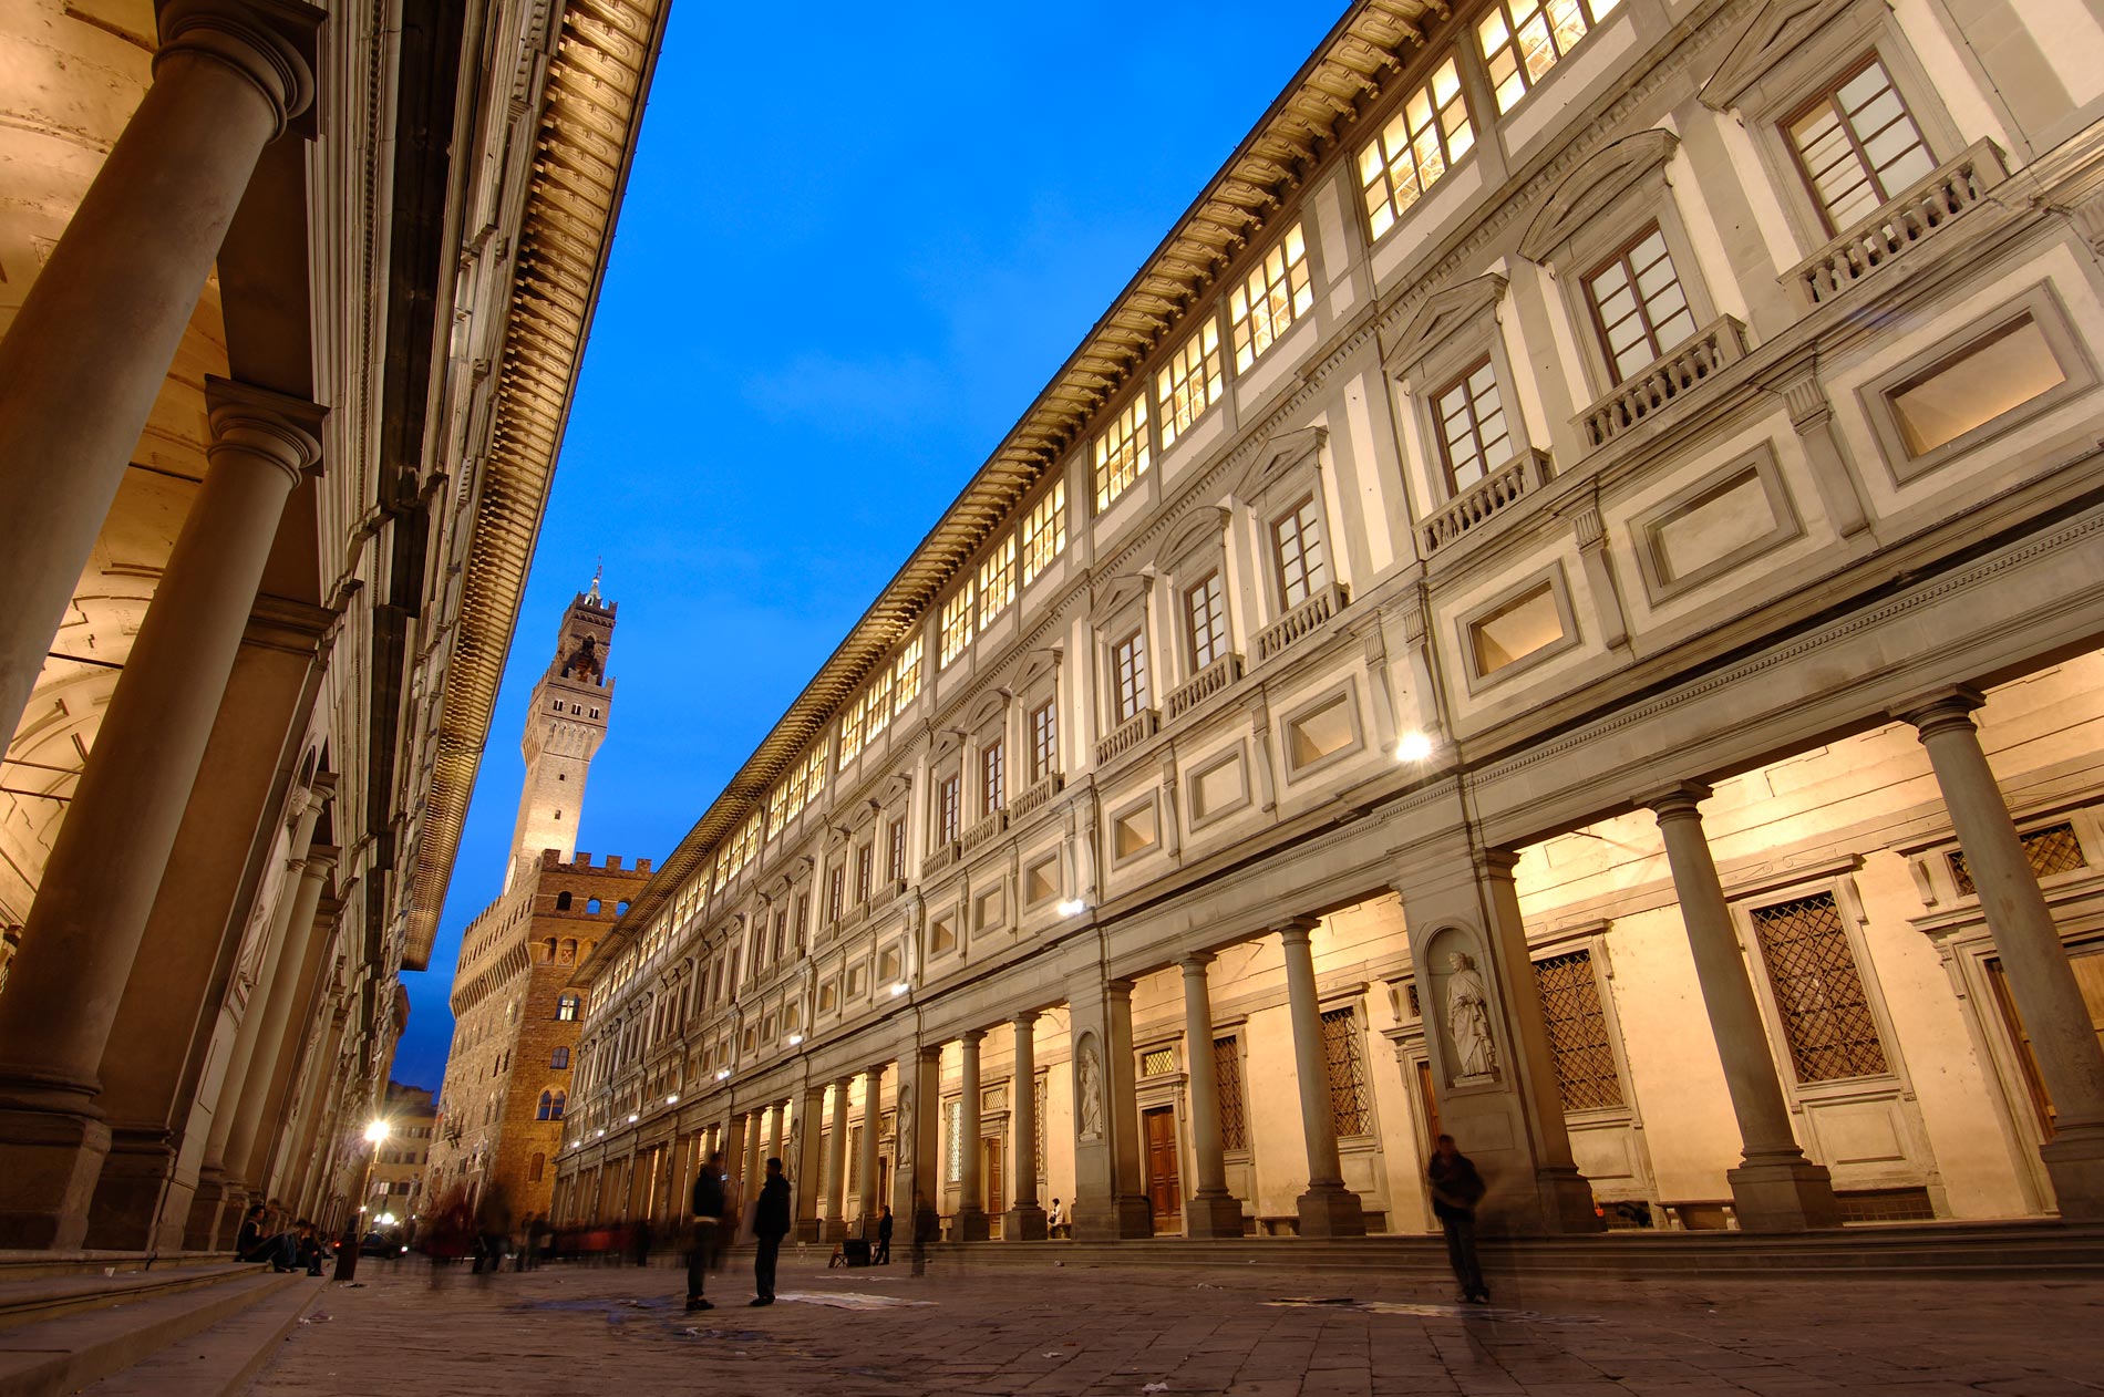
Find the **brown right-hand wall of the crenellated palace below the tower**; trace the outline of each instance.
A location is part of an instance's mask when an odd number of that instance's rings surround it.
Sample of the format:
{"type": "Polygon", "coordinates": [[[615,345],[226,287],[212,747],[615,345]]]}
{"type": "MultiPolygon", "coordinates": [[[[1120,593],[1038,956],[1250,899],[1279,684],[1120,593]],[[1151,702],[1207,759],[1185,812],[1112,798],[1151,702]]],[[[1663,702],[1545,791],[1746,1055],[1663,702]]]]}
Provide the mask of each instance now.
{"type": "Polygon", "coordinates": [[[541,1092],[568,1092],[570,1067],[553,1067],[555,1050],[568,1048],[576,1060],[576,1035],[583,1018],[560,1018],[562,993],[579,961],[591,953],[600,936],[612,930],[619,909],[650,882],[650,861],[623,867],[619,854],[593,863],[579,852],[562,861],[555,852],[541,856],[532,915],[520,928],[526,938],[530,970],[520,993],[520,1016],[513,1025],[511,1073],[505,1088],[501,1128],[490,1149],[486,1178],[501,1180],[511,1197],[511,1212],[524,1218],[547,1212],[555,1191],[555,1151],[562,1147],[562,1123],[543,1121],[541,1092]],[[568,894],[568,907],[562,905],[568,894]],[[593,900],[598,911],[591,911],[593,900]],[[534,1178],[534,1157],[541,1170],[534,1178]]]}

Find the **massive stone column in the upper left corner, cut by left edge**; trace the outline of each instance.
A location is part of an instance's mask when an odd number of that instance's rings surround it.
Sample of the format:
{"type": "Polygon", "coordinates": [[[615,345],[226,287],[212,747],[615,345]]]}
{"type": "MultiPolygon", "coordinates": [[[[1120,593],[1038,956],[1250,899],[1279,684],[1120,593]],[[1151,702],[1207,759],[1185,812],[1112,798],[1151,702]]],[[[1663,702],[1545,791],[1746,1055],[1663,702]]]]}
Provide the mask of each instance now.
{"type": "Polygon", "coordinates": [[[313,101],[309,46],[311,34],[282,34],[248,4],[166,4],[154,86],[0,341],[0,461],[15,467],[0,511],[6,732],[21,722],[257,158],[313,101]]]}

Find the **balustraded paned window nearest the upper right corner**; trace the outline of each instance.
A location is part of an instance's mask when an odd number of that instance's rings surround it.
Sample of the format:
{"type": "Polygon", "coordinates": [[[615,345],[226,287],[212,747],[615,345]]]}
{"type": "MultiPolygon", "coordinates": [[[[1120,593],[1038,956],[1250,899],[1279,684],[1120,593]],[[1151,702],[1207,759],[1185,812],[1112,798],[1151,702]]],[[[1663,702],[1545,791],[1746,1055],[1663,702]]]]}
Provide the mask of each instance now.
{"type": "Polygon", "coordinates": [[[1873,53],[1782,124],[1828,234],[1927,179],[1936,156],[1873,53]]]}

